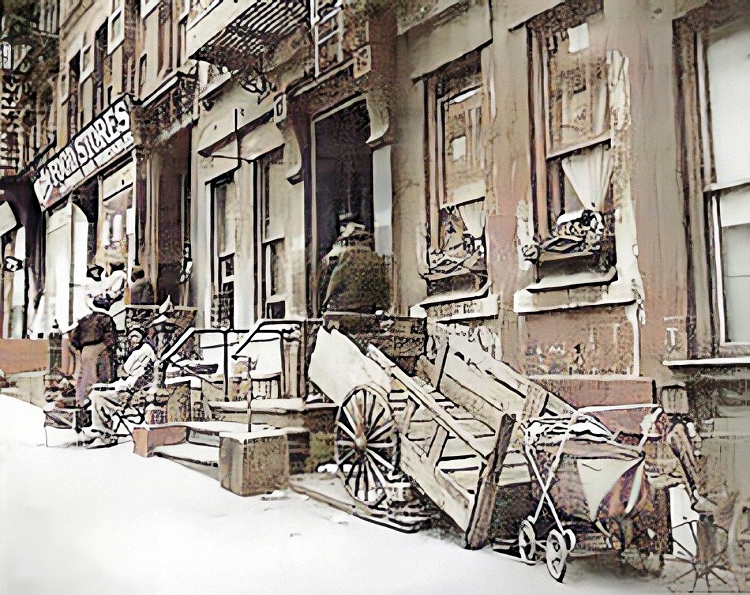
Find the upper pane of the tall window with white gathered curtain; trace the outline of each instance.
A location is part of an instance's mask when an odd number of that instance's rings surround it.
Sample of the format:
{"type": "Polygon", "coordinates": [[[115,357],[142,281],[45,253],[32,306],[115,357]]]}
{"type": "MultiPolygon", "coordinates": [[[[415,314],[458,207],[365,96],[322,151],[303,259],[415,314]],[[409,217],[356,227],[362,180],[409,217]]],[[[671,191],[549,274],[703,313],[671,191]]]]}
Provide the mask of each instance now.
{"type": "Polygon", "coordinates": [[[549,150],[558,151],[609,130],[607,60],[591,48],[572,53],[567,33],[550,35],[546,46],[549,150]]]}

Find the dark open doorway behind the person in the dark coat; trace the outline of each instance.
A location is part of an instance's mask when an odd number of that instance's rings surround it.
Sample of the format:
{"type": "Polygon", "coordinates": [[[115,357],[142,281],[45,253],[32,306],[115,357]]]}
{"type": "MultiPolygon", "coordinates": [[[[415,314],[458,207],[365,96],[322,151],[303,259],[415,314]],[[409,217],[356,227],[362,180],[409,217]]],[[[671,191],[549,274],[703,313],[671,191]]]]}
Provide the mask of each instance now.
{"type": "Polygon", "coordinates": [[[364,100],[313,122],[311,310],[320,313],[321,263],[349,223],[374,230],[370,117],[364,100]]]}

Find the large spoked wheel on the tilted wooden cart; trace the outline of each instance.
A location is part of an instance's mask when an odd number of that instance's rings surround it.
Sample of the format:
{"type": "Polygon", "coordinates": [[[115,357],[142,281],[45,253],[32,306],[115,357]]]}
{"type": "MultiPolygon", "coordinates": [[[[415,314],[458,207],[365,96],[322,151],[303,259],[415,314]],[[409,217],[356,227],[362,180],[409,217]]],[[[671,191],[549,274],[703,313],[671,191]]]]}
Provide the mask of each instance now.
{"type": "Polygon", "coordinates": [[[347,491],[367,506],[386,498],[396,471],[398,435],[388,401],[367,387],[354,389],[336,419],[334,456],[347,491]]]}

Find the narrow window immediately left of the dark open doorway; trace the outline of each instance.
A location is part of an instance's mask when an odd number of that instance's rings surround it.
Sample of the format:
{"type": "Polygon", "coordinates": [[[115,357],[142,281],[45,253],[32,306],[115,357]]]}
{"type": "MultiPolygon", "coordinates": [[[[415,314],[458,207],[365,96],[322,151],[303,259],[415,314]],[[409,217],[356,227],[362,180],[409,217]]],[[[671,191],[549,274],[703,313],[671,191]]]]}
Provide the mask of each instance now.
{"type": "Polygon", "coordinates": [[[261,157],[257,162],[256,221],[258,242],[258,315],[283,318],[286,313],[286,255],[284,248],[285,212],[281,201],[272,195],[286,183],[281,150],[261,157]]]}

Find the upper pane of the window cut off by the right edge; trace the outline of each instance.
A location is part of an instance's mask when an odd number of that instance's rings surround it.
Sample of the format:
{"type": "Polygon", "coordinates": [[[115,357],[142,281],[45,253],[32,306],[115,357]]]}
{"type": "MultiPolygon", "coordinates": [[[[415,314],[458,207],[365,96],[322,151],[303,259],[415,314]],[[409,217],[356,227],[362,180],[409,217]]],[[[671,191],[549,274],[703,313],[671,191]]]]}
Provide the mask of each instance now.
{"type": "Polygon", "coordinates": [[[707,67],[716,182],[750,178],[750,22],[712,33],[707,67]]]}

